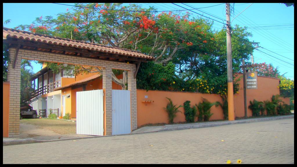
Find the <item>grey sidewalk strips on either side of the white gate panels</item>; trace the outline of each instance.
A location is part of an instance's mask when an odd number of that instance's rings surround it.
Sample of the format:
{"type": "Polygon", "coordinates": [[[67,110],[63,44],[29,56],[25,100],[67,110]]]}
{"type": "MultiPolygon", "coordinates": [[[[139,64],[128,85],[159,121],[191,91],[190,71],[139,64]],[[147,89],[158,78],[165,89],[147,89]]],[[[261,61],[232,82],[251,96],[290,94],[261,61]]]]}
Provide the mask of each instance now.
{"type": "MultiPolygon", "coordinates": [[[[250,122],[268,121],[268,120],[276,120],[276,119],[289,119],[289,118],[294,118],[294,114],[285,115],[285,116],[271,116],[271,117],[264,117],[264,118],[240,119],[235,121],[217,121],[217,122],[200,122],[200,123],[175,124],[175,125],[164,125],[164,126],[148,126],[148,127],[142,127],[140,129],[134,130],[130,134],[161,132],[161,131],[168,131],[168,130],[183,130],[183,129],[201,128],[201,127],[213,127],[213,126],[250,123],[250,122]]],[[[68,138],[55,139],[55,140],[36,140],[33,138],[27,138],[27,139],[3,138],[3,146],[31,144],[31,143],[44,143],[44,142],[64,141],[64,140],[78,140],[78,139],[94,138],[94,137],[105,137],[105,136],[83,135],[83,137],[80,137],[80,135],[74,134],[74,135],[68,136],[68,138]]]]}

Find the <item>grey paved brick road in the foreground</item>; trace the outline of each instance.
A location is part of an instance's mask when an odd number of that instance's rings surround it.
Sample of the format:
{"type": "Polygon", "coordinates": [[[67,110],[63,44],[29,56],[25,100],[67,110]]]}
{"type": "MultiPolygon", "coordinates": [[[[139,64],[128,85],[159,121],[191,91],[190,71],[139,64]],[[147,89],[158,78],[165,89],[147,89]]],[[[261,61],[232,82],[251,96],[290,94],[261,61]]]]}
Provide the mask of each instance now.
{"type": "Polygon", "coordinates": [[[294,163],[294,119],[3,146],[4,164],[225,164],[228,159],[241,159],[243,164],[294,163]]]}

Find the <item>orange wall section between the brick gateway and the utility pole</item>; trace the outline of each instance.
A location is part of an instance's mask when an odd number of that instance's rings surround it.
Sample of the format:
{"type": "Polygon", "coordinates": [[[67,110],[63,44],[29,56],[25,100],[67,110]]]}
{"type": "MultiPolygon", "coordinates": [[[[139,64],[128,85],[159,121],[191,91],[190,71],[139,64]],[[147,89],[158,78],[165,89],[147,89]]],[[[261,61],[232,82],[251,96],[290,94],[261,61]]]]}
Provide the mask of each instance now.
{"type": "MultiPolygon", "coordinates": [[[[137,126],[140,127],[145,124],[157,124],[157,123],[169,123],[168,114],[163,107],[169,103],[170,98],[174,105],[184,105],[184,102],[190,100],[191,107],[199,102],[202,102],[202,98],[206,98],[210,102],[219,101],[222,103],[222,98],[217,94],[202,94],[193,92],[172,92],[172,91],[155,91],[143,89],[137,89],[137,126]],[[144,103],[144,96],[148,95],[147,100],[154,100],[153,103],[144,103]]],[[[179,110],[182,113],[177,113],[173,122],[185,122],[186,118],[184,115],[184,108],[181,107],[179,110]]],[[[214,113],[210,120],[223,119],[223,111],[221,107],[212,106],[211,113],[214,113]]],[[[196,117],[195,121],[198,121],[196,117]]]]}

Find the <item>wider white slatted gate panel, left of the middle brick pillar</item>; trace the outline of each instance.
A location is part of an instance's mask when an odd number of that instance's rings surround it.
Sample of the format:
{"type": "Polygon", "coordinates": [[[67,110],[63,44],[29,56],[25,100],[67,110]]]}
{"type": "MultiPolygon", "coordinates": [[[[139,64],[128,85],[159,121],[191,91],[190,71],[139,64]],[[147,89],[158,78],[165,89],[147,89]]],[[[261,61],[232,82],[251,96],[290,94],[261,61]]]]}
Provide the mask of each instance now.
{"type": "Polygon", "coordinates": [[[76,134],[103,136],[103,90],[76,92],[76,134]]]}

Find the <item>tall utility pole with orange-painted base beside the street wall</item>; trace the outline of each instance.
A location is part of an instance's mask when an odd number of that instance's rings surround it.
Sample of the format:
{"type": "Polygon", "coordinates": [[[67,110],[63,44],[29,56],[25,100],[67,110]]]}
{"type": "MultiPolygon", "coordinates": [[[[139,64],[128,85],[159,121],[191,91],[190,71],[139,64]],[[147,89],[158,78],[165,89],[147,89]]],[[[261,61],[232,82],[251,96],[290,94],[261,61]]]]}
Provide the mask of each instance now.
{"type": "Polygon", "coordinates": [[[231,48],[231,24],[230,3],[226,3],[227,21],[227,77],[228,77],[228,120],[234,121],[234,98],[233,98],[233,72],[232,72],[232,48],[231,48]]]}

